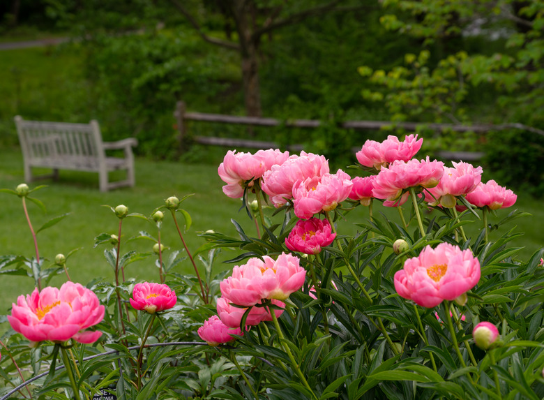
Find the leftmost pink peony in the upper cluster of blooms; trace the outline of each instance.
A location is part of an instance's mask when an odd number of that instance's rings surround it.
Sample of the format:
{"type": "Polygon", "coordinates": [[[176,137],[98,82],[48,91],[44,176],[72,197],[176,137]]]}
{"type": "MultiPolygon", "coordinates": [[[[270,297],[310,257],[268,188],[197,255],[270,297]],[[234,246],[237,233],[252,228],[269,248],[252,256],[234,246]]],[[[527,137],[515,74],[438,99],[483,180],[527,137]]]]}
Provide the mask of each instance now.
{"type": "Polygon", "coordinates": [[[289,152],[282,153],[278,149],[259,150],[255,154],[227,151],[218,168],[219,177],[226,183],[223,193],[230,198],[241,198],[245,182],[251,181],[248,186],[253,186],[255,179],[260,179],[272,165],[282,164],[287,158],[289,152]]]}

